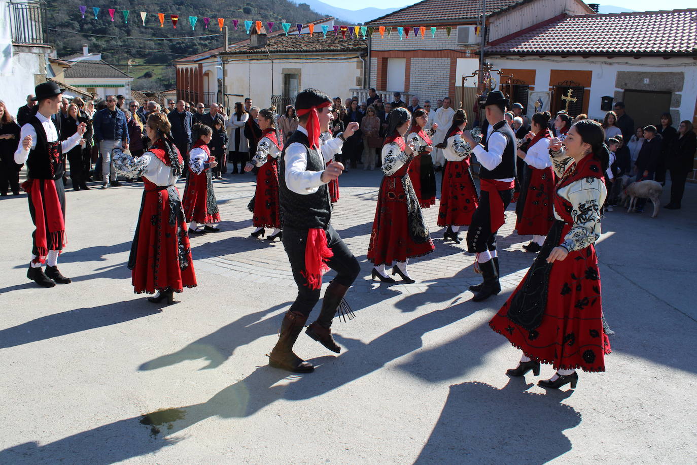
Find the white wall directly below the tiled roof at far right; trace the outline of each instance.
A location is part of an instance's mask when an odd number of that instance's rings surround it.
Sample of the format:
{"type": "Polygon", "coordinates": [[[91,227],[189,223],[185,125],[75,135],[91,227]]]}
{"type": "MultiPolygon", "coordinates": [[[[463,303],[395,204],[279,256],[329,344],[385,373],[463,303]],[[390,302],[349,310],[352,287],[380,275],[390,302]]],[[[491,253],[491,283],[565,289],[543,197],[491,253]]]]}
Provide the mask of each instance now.
{"type": "Polygon", "coordinates": [[[622,91],[615,87],[615,79],[618,71],[634,71],[647,73],[653,72],[683,72],[684,87],[680,92],[680,119],[694,118],[695,101],[697,99],[697,63],[692,59],[646,57],[635,60],[629,58],[615,58],[611,60],[597,61],[582,58],[555,58],[526,59],[518,57],[497,58],[490,56],[487,61],[494,68],[510,68],[536,70],[535,91],[549,90],[549,76],[551,70],[592,70],[590,87],[590,100],[588,102],[588,116],[591,119],[603,119],[606,112],[600,109],[600,99],[603,96],[615,95],[615,91],[622,91]]]}

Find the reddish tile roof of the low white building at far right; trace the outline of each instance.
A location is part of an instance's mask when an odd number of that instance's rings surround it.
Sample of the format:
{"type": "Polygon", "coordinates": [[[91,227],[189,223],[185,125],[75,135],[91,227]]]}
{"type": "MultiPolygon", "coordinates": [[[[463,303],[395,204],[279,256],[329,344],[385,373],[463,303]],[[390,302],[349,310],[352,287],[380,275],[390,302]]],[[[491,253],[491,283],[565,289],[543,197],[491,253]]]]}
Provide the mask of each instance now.
{"type": "Polygon", "coordinates": [[[697,9],[569,16],[492,44],[489,55],[697,56],[697,9]]]}

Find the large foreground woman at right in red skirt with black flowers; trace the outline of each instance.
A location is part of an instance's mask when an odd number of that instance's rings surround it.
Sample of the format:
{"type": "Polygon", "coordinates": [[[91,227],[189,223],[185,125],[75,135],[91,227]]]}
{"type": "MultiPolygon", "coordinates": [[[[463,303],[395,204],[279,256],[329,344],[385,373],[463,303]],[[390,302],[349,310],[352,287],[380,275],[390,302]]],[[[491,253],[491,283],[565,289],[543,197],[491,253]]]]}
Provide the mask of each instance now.
{"type": "Polygon", "coordinates": [[[577,368],[604,372],[610,342],[603,329],[598,259],[600,207],[606,190],[603,173],[609,155],[604,132],[592,120],[574,124],[563,142],[551,139],[552,164],[560,180],[554,195],[554,222],[533,266],[489,326],[523,351],[511,376],[540,363],[556,374],[539,381],[544,388],[571,384],[577,368]]]}

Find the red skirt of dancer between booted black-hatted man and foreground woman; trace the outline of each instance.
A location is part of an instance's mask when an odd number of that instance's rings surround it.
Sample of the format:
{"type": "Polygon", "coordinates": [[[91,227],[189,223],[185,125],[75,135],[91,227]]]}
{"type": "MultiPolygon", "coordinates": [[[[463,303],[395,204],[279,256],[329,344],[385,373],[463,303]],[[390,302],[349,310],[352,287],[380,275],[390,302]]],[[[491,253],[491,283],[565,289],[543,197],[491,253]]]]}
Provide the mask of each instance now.
{"type": "Polygon", "coordinates": [[[546,236],[554,223],[554,171],[551,167],[532,170],[530,184],[525,193],[523,211],[516,222],[518,234],[546,236]]]}

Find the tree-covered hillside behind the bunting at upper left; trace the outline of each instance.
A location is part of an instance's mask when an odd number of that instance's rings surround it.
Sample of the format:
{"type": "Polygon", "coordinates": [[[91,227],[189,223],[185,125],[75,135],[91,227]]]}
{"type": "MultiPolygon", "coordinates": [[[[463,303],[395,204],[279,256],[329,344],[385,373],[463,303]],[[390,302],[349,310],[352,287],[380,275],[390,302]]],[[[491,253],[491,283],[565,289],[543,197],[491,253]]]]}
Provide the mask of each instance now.
{"type": "Polygon", "coordinates": [[[59,57],[82,53],[82,46],[89,45],[90,52],[101,53],[105,61],[135,77],[133,89],[153,91],[174,87],[172,60],[222,46],[218,17],[225,18],[229,42],[233,43],[247,36],[244,20],[275,22],[276,29],[281,22],[305,23],[324,16],[312,11],[306,3],[288,0],[257,0],[254,3],[246,0],[155,0],[148,3],[121,0],[118,5],[47,0],[46,3],[49,42],[54,44],[59,57]],[[84,19],[80,5],[87,6],[84,19]],[[100,8],[96,20],[93,6],[100,8]],[[109,17],[109,8],[116,8],[114,22],[109,17]],[[123,10],[129,11],[128,24],[124,22],[123,10]],[[141,11],[148,13],[146,26],[142,25],[141,11]],[[160,27],[158,13],[165,15],[164,27],[160,27]],[[170,15],[179,15],[176,29],[172,27],[170,15]],[[194,30],[189,16],[199,17],[194,30]],[[208,29],[204,28],[204,17],[210,17],[208,29]],[[237,31],[232,20],[240,20],[237,31]],[[192,36],[194,38],[190,38],[192,36]]]}

